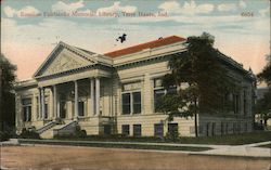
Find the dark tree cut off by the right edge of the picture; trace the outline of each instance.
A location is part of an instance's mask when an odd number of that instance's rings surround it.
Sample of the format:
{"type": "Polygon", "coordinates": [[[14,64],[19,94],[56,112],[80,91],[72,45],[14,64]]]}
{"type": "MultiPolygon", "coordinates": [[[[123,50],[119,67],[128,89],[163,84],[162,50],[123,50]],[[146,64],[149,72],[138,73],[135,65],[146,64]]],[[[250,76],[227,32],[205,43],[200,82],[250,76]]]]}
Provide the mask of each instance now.
{"type": "Polygon", "coordinates": [[[261,115],[264,120],[264,125],[267,120],[271,118],[271,55],[267,55],[267,65],[257,75],[258,81],[267,82],[268,92],[264,96],[257,101],[256,112],[261,115]]]}

